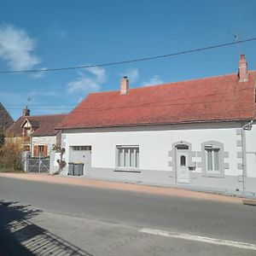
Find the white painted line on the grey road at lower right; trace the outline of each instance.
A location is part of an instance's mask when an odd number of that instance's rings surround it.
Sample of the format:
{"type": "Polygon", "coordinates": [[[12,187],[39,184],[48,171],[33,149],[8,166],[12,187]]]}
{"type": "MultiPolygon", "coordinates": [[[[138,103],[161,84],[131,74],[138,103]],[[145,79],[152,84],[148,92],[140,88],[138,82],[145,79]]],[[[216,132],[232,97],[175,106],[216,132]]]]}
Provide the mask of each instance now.
{"type": "Polygon", "coordinates": [[[253,243],[221,240],[221,239],[211,238],[206,236],[194,236],[194,235],[189,235],[185,233],[169,232],[166,230],[141,229],[138,231],[152,234],[152,235],[167,236],[167,237],[179,238],[179,239],[190,240],[190,241],[201,241],[201,242],[207,242],[207,243],[212,243],[217,245],[224,245],[228,247],[238,247],[242,249],[249,249],[249,250],[256,251],[256,244],[253,244],[253,243]]]}

